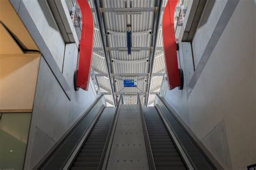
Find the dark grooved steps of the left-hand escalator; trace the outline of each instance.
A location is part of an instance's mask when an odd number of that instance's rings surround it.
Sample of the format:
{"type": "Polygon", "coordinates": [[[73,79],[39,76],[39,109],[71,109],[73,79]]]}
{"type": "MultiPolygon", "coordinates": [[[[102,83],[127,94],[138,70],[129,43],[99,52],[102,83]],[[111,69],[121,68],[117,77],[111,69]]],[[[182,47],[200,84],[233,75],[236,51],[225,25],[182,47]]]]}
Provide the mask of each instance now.
{"type": "Polygon", "coordinates": [[[89,137],[80,149],[71,169],[97,169],[107,134],[113,121],[114,110],[105,108],[89,137]]]}

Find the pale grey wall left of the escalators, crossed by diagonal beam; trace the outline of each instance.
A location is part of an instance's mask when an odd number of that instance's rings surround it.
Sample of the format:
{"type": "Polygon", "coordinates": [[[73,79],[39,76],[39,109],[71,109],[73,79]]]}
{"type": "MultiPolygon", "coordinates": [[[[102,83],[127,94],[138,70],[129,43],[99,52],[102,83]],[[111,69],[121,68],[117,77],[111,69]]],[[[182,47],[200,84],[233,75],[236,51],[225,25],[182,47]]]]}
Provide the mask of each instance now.
{"type": "Polygon", "coordinates": [[[76,44],[67,44],[65,53],[72,54],[65,55],[63,68],[71,86],[71,100],[42,57],[24,169],[33,168],[97,97],[92,81],[88,91],[73,90],[71,75],[77,68],[76,44]]]}

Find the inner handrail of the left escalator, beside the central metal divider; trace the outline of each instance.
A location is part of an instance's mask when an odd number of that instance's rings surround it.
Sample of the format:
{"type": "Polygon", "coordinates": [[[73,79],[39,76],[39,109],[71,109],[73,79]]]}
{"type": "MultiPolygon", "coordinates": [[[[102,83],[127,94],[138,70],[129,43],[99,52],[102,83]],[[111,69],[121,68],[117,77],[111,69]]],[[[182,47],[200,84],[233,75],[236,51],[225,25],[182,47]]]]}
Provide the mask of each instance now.
{"type": "Polygon", "coordinates": [[[120,101],[122,101],[122,94],[119,97],[116,112],[114,113],[113,121],[112,121],[112,124],[111,124],[110,129],[109,129],[109,133],[107,133],[106,142],[105,142],[103,152],[102,152],[102,156],[100,157],[99,165],[98,165],[98,168],[97,168],[98,170],[103,169],[104,163],[106,164],[105,168],[107,167],[107,161],[109,159],[109,154],[110,154],[110,150],[111,150],[112,142],[113,142],[112,132],[114,132],[114,130],[116,129],[116,126],[117,126],[117,119],[118,119],[119,110],[120,110],[120,101]],[[116,126],[114,127],[114,125],[116,125],[116,126]],[[112,137],[112,139],[111,139],[111,137],[112,137]],[[110,141],[111,141],[111,145],[109,145],[110,141]],[[107,155],[107,157],[106,157],[106,155],[107,155]]]}

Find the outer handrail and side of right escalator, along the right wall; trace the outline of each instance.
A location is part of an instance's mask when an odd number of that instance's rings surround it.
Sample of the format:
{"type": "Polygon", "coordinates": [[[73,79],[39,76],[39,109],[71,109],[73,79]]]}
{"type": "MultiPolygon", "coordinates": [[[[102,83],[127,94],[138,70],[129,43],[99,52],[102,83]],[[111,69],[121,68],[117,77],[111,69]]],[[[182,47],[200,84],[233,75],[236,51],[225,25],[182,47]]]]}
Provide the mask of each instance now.
{"type": "Polygon", "coordinates": [[[167,108],[167,110],[172,114],[174,119],[180,125],[181,129],[185,132],[187,137],[190,139],[194,147],[198,150],[201,156],[207,161],[208,165],[213,166],[216,169],[224,169],[219,162],[213,157],[213,155],[208,151],[208,149],[204,146],[204,144],[196,137],[196,135],[191,131],[190,127],[188,127],[183,120],[179,117],[178,113],[170,106],[169,103],[163,98],[160,97],[159,94],[156,94],[160,99],[161,103],[167,108]]]}

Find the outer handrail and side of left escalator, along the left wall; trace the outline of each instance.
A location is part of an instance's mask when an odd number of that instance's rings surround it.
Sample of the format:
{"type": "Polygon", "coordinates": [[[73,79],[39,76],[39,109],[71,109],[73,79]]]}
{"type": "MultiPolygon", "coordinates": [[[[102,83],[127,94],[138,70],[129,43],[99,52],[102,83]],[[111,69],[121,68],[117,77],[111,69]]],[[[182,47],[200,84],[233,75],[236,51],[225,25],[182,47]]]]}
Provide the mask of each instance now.
{"type": "Polygon", "coordinates": [[[86,117],[86,115],[92,110],[95,105],[98,104],[98,101],[102,99],[104,94],[101,94],[93,103],[86,108],[84,113],[78,118],[75,123],[69,128],[68,131],[66,131],[65,134],[56,142],[56,144],[48,151],[48,153],[45,154],[45,156],[41,159],[41,161],[38,162],[38,164],[33,169],[43,168],[45,165],[49,163],[49,161],[53,158],[53,156],[58,152],[60,147],[65,143],[67,139],[69,139],[70,135],[76,130],[79,123],[86,117]]]}

